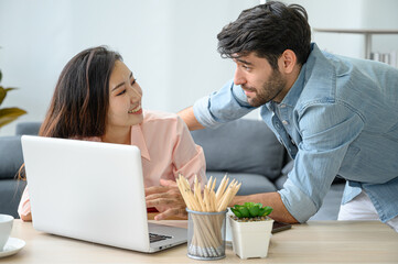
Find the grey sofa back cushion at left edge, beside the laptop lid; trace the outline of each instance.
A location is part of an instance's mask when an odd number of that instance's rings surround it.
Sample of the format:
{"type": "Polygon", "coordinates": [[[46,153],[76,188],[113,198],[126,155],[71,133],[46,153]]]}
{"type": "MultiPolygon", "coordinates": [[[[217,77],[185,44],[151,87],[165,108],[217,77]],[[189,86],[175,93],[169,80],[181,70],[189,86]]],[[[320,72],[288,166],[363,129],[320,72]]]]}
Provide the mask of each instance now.
{"type": "Polygon", "coordinates": [[[0,179],[12,179],[23,163],[21,136],[0,136],[0,179]]]}

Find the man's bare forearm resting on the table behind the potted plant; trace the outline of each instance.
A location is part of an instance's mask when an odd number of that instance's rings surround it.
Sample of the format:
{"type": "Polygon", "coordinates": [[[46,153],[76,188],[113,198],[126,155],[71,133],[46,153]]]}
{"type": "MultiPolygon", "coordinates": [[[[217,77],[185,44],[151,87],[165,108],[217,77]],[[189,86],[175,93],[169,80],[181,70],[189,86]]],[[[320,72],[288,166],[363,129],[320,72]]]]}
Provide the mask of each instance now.
{"type": "Polygon", "coordinates": [[[263,193],[263,194],[256,194],[249,196],[236,196],[233,201],[229,204],[230,207],[235,205],[244,205],[247,201],[252,202],[261,202],[263,206],[269,206],[273,208],[270,217],[280,222],[287,223],[297,223],[299,222],[295,218],[290,215],[288,209],[286,209],[282,199],[278,193],[263,193]]]}

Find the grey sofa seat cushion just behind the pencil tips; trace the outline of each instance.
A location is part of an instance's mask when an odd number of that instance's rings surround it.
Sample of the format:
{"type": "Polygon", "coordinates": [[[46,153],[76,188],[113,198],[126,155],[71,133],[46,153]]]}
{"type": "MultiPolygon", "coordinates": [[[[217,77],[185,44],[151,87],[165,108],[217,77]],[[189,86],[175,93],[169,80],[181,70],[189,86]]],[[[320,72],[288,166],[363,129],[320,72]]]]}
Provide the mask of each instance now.
{"type": "MultiPolygon", "coordinates": [[[[222,183],[224,175],[225,175],[224,172],[207,170],[206,173],[207,179],[209,179],[211,176],[217,179],[215,189],[218,189],[218,185],[222,183]]],[[[229,177],[229,183],[233,179],[236,179],[239,183],[241,183],[241,187],[237,195],[254,195],[254,194],[270,193],[277,190],[277,188],[268,178],[259,174],[228,173],[227,176],[229,177]]]]}

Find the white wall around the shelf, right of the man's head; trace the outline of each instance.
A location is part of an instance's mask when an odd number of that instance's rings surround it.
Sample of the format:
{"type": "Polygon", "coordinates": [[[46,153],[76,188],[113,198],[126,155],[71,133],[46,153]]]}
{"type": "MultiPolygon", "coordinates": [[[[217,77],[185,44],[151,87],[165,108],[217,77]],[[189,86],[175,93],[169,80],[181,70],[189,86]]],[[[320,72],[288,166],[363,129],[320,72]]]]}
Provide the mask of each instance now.
{"type": "MultiPolygon", "coordinates": [[[[398,30],[397,0],[283,0],[299,3],[309,14],[311,28],[398,30]]],[[[365,37],[359,34],[313,32],[321,50],[352,57],[365,57],[365,37]]],[[[398,35],[374,35],[373,52],[398,51],[398,35]]]]}

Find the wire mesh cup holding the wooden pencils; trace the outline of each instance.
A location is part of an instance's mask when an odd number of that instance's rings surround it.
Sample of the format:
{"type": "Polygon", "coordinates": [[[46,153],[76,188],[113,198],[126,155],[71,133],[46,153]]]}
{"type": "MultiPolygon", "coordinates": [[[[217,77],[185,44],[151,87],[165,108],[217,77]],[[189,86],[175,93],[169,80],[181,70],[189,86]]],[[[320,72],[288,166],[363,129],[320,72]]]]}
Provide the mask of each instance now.
{"type": "Polygon", "coordinates": [[[220,212],[189,212],[187,256],[211,261],[225,257],[225,216],[220,212]]]}

